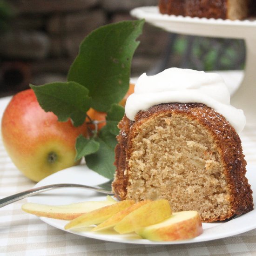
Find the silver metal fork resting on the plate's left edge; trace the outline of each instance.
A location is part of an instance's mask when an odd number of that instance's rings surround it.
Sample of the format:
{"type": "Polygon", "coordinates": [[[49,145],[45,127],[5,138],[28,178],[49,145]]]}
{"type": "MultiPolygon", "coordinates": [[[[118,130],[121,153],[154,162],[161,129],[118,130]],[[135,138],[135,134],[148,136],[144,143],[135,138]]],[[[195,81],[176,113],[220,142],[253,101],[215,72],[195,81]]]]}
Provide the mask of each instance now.
{"type": "Polygon", "coordinates": [[[37,195],[42,192],[51,190],[51,189],[61,189],[61,188],[79,188],[79,189],[90,189],[99,193],[108,194],[108,195],[114,195],[114,193],[111,191],[111,183],[113,180],[110,180],[108,182],[99,184],[97,186],[87,186],[87,185],[81,185],[81,184],[72,184],[72,183],[60,183],[60,184],[51,184],[46,185],[34,189],[28,189],[26,191],[17,193],[15,195],[10,195],[5,198],[0,199],[0,208],[4,207],[10,203],[19,201],[23,198],[26,198],[28,196],[37,195]]]}

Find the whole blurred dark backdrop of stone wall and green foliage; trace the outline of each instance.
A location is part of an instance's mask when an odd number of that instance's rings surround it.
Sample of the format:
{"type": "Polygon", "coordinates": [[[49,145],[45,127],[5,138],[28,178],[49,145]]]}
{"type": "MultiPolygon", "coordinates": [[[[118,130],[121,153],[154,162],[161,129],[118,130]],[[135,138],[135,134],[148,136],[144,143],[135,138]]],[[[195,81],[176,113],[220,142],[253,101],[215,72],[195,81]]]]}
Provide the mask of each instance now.
{"type": "MultiPolygon", "coordinates": [[[[95,28],[132,20],[129,12],[158,0],[0,0],[0,97],[66,81],[83,38],[95,28]]],[[[172,34],[145,24],[131,76],[168,67],[243,69],[243,40],[172,34]]]]}

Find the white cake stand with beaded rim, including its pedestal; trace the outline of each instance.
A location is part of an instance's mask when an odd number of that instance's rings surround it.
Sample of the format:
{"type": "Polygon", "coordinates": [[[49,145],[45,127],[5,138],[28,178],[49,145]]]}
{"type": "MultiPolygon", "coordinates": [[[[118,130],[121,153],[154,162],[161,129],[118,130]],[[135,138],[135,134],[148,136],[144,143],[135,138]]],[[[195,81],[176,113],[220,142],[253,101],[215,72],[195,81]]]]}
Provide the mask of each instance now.
{"type": "Polygon", "coordinates": [[[243,82],[231,97],[231,104],[243,109],[247,125],[256,125],[256,20],[221,20],[161,14],[158,7],[138,7],[131,11],[138,19],[168,32],[208,37],[244,39],[246,67],[243,82]]]}

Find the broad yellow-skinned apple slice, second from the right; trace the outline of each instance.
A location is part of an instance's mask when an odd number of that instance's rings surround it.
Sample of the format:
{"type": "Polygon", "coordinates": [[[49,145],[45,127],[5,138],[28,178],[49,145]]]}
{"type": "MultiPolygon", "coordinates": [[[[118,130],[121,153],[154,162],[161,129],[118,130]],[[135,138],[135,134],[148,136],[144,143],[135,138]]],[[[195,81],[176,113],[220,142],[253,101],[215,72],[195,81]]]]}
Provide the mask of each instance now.
{"type": "Polygon", "coordinates": [[[115,225],[114,229],[120,234],[130,233],[142,227],[162,222],[171,214],[172,210],[168,200],[148,202],[125,216],[115,225]]]}

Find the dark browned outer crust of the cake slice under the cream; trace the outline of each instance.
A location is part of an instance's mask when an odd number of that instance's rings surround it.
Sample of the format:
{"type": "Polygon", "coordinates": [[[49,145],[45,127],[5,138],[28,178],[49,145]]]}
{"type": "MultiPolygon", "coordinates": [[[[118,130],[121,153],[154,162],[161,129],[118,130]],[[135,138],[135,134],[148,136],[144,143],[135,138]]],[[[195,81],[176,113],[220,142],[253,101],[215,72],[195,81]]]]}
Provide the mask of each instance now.
{"type": "Polygon", "coordinates": [[[129,171],[128,159],[132,151],[132,138],[136,136],[136,132],[143,122],[160,113],[168,113],[170,116],[173,114],[186,115],[190,119],[198,121],[210,132],[216,142],[222,158],[224,175],[229,186],[231,211],[227,216],[219,216],[215,219],[204,221],[224,220],[252,210],[252,190],[245,177],[246,161],[244,160],[241,140],[235,129],[222,115],[200,103],[160,104],[149,108],[147,111],[140,111],[135,116],[135,121],[130,121],[126,116],[123,117],[119,124],[121,131],[117,136],[119,144],[115,151],[116,175],[113,182],[115,195],[121,200],[126,198],[128,176],[125,173],[125,169],[129,171]]]}

